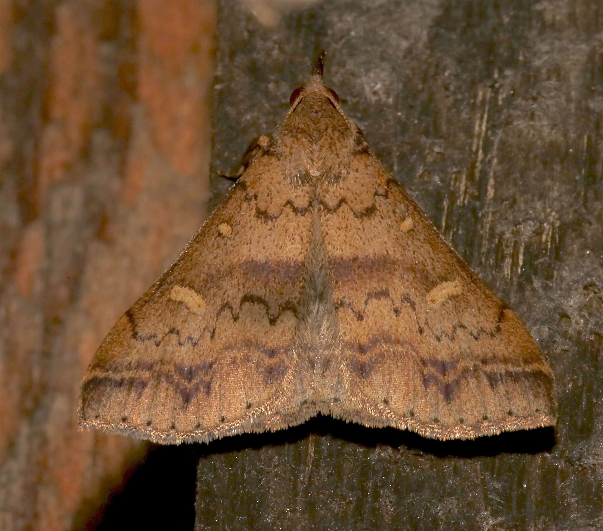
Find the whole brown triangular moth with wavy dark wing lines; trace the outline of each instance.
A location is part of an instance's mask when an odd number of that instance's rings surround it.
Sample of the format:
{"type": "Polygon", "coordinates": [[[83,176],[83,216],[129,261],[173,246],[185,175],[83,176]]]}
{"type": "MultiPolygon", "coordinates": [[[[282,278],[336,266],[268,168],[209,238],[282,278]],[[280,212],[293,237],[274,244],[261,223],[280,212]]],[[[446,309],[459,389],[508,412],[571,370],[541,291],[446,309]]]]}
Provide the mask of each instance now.
{"type": "Polygon", "coordinates": [[[376,159],[322,59],[96,351],[82,427],[179,444],[317,413],[436,439],[555,424],[534,339],[376,159]]]}

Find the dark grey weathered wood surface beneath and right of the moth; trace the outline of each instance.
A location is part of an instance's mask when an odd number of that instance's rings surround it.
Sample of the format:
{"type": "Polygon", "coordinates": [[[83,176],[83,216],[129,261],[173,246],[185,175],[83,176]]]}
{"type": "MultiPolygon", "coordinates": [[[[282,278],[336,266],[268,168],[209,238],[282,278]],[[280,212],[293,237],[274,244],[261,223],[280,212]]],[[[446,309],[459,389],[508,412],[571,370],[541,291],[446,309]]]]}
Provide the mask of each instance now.
{"type": "Polygon", "coordinates": [[[537,339],[560,410],[475,442],[330,418],[215,441],[196,529],[601,529],[603,5],[339,0],[268,27],[223,1],[218,19],[213,167],[273,131],[326,49],[382,162],[537,339]]]}

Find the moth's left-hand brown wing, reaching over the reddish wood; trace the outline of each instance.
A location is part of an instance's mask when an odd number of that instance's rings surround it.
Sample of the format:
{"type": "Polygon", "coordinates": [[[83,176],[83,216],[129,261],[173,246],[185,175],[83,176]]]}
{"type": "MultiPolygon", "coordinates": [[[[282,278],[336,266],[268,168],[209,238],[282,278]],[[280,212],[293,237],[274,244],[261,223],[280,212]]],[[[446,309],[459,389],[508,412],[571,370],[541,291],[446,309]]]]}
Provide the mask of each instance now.
{"type": "Polygon", "coordinates": [[[279,160],[256,157],[119,319],[84,376],[83,427],[168,443],[290,424],[311,197],[280,175],[279,160]]]}

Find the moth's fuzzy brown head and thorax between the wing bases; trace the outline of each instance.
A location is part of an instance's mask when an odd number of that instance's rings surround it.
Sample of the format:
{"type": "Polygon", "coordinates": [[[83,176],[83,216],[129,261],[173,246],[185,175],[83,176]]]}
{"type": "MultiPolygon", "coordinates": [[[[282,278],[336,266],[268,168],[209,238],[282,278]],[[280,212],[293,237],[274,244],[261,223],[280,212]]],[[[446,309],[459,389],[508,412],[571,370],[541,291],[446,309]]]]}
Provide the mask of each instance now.
{"type": "Polygon", "coordinates": [[[280,124],[274,148],[294,183],[338,182],[349,173],[359,137],[328,89],[314,80],[280,124]]]}

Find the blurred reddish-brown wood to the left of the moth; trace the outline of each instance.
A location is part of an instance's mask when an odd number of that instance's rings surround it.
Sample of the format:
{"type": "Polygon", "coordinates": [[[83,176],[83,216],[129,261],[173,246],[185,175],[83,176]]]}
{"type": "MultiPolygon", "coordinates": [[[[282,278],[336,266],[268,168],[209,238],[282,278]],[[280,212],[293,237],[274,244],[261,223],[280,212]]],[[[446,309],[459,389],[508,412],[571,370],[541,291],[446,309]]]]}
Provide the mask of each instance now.
{"type": "Polygon", "coordinates": [[[210,1],[0,0],[3,531],[93,529],[145,454],[77,393],[203,221],[214,31],[210,1]]]}

